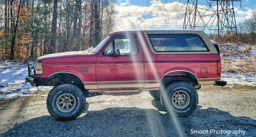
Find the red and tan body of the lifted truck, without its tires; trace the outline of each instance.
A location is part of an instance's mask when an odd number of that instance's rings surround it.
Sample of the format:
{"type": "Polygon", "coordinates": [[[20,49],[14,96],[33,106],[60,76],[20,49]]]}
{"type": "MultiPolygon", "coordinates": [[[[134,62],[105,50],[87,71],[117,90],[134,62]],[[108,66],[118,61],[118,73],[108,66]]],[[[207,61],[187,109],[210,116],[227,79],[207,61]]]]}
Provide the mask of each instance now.
{"type": "Polygon", "coordinates": [[[116,31],[93,52],[45,55],[28,71],[33,86],[72,84],[85,95],[161,94],[175,82],[195,89],[226,84],[217,49],[204,32],[191,30],[116,31]]]}

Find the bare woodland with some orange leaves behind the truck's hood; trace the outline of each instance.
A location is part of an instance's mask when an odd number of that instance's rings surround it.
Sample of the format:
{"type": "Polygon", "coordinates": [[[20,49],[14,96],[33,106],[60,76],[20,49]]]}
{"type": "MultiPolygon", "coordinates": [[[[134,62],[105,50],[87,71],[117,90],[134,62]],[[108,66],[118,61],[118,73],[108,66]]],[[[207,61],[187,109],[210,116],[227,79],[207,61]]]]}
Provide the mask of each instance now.
{"type": "Polygon", "coordinates": [[[115,0],[0,0],[2,60],[95,47],[114,28],[115,0]]]}

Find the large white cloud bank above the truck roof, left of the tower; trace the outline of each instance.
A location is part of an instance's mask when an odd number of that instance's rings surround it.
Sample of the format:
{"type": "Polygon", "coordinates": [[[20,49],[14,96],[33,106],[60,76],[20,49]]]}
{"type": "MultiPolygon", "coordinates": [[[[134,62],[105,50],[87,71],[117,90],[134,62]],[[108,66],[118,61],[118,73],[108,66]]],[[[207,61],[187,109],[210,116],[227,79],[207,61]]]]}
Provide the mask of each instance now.
{"type": "Polygon", "coordinates": [[[116,5],[116,30],[150,29],[163,26],[182,26],[180,19],[185,15],[186,6],[172,2],[163,4],[161,1],[150,1],[151,5],[137,6],[122,3],[116,5]]]}

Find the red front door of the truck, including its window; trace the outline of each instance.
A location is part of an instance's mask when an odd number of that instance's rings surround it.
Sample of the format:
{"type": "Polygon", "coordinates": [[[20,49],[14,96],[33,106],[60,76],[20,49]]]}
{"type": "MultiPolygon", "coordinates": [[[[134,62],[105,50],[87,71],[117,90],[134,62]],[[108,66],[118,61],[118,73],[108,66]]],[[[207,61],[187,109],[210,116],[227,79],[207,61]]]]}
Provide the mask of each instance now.
{"type": "Polygon", "coordinates": [[[97,57],[96,79],[99,89],[143,88],[143,50],[138,46],[135,34],[121,34],[112,37],[108,46],[97,57]],[[113,57],[113,50],[120,55],[113,57]]]}

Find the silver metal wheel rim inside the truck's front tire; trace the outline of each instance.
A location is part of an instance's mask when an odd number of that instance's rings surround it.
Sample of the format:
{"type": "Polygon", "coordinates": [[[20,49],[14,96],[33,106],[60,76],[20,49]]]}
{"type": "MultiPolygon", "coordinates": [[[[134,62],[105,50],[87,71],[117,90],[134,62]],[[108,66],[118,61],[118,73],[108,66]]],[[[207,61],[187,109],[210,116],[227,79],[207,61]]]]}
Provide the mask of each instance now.
{"type": "Polygon", "coordinates": [[[62,112],[70,112],[76,106],[76,98],[70,93],[65,93],[58,96],[57,108],[62,112]]]}

